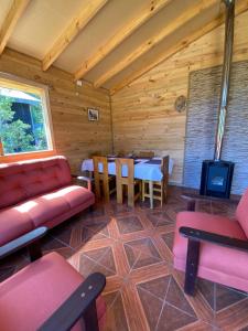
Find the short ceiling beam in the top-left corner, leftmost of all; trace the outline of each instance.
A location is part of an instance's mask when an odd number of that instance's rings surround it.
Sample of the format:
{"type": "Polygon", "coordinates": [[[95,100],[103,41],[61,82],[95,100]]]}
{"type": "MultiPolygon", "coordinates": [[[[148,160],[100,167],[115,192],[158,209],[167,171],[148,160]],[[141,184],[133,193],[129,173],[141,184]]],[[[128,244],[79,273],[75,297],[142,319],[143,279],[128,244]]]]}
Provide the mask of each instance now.
{"type": "Polygon", "coordinates": [[[30,0],[13,0],[0,30],[0,55],[10,39],[18,20],[21,18],[30,0]]]}

